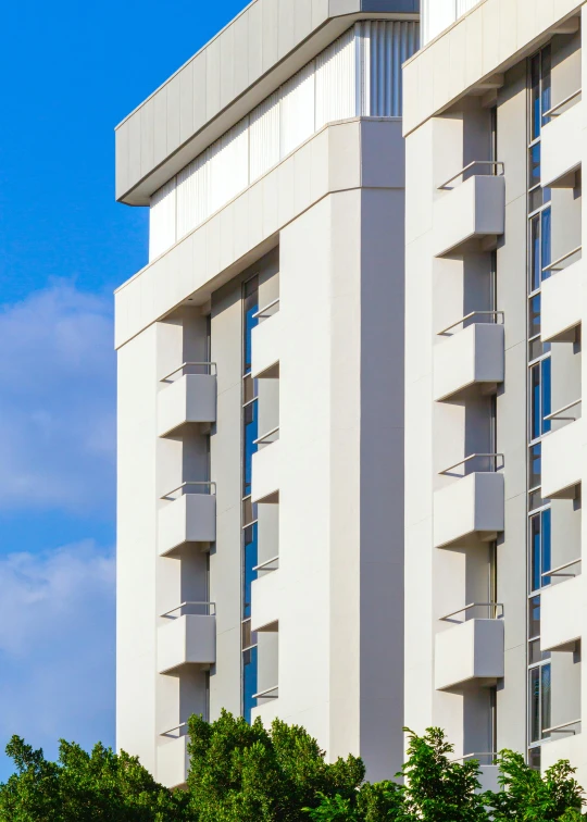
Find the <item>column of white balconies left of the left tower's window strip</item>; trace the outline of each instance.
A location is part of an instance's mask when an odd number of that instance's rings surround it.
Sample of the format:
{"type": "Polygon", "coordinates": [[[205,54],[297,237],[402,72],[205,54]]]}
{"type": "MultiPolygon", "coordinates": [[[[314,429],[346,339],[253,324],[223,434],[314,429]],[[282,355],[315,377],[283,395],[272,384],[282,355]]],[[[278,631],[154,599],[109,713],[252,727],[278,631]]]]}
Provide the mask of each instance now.
{"type": "MultiPolygon", "coordinates": [[[[216,375],[213,363],[187,362],[162,379],[158,394],[157,427],[160,437],[183,439],[193,426],[207,436],[216,421],[216,375]]],[[[208,550],[216,539],[215,485],[208,478],[185,481],[161,498],[158,516],[158,553],[182,562],[189,551],[208,550]]],[[[160,615],[158,671],[182,677],[207,671],[216,661],[216,616],[213,602],[178,602],[160,615]]],[[[180,711],[182,712],[182,711],[180,711]]],[[[170,787],[187,779],[186,723],[161,734],[158,779],[170,787]]]]}

